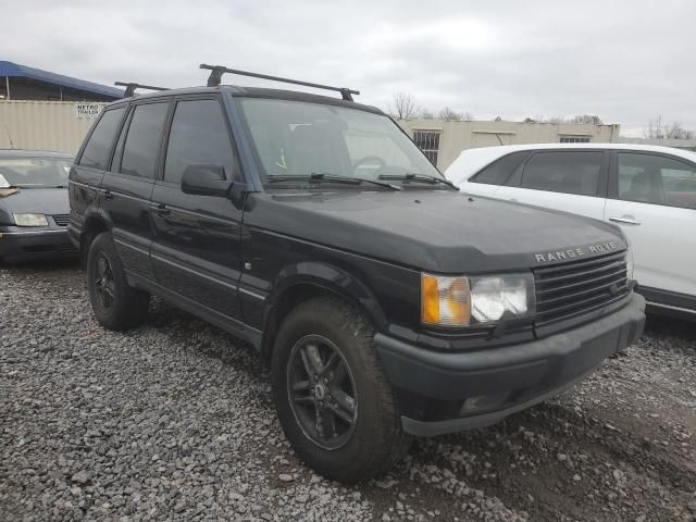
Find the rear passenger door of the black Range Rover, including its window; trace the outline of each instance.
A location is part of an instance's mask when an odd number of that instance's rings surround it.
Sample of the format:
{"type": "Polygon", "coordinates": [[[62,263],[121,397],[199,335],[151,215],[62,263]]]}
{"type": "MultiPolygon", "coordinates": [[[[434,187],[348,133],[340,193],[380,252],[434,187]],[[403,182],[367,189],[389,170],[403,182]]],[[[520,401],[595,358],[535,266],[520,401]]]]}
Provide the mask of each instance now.
{"type": "Polygon", "coordinates": [[[169,100],[159,100],[130,108],[101,184],[101,207],[113,222],[111,232],[125,269],[150,281],[154,272],[149,201],[169,107],[169,100]]]}

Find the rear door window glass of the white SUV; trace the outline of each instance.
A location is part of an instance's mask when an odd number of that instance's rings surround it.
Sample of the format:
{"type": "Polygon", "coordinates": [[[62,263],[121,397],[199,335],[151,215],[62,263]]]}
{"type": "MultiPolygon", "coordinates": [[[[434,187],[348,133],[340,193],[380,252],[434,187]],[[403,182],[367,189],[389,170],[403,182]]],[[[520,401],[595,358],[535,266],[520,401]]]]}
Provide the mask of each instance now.
{"type": "Polygon", "coordinates": [[[520,187],[597,196],[604,152],[536,152],[524,165],[520,187]]]}

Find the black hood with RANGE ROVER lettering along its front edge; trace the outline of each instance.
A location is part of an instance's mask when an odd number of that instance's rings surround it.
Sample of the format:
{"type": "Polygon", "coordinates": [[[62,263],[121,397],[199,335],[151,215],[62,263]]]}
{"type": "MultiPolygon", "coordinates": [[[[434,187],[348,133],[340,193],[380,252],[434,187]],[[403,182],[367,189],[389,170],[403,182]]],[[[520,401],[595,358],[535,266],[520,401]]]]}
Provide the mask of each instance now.
{"type": "Polygon", "coordinates": [[[450,190],[250,198],[246,225],[435,273],[530,269],[626,248],[600,221],[450,190]]]}

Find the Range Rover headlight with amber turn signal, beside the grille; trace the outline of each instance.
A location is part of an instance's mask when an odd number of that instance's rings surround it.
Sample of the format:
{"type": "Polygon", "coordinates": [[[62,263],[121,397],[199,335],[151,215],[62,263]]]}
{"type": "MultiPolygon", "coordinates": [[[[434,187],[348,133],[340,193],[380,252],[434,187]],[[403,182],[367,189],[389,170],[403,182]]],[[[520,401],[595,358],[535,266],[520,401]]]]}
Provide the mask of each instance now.
{"type": "Polygon", "coordinates": [[[421,275],[421,321],[437,326],[490,324],[504,314],[534,314],[532,273],[440,276],[421,275]]]}

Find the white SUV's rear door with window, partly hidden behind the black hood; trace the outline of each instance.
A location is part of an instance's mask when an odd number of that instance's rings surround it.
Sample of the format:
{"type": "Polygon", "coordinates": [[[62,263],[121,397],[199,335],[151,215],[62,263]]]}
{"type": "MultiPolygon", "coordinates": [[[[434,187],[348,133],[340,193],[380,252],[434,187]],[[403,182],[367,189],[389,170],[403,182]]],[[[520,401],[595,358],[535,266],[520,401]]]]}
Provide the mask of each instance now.
{"type": "Polygon", "coordinates": [[[608,151],[535,151],[494,197],[601,220],[608,166],[608,151]]]}

